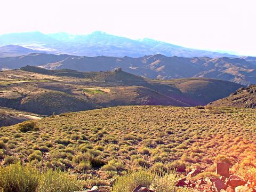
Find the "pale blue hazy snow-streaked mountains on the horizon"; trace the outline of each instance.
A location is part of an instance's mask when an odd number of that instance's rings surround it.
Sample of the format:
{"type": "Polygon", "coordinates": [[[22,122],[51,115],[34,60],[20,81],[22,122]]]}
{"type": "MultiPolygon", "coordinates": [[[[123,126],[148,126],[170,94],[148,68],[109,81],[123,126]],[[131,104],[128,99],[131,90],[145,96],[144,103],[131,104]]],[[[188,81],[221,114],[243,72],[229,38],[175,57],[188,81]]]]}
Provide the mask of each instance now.
{"type": "MultiPolygon", "coordinates": [[[[52,54],[71,54],[78,56],[109,56],[109,57],[143,57],[145,55],[163,54],[167,57],[236,57],[227,53],[217,53],[203,50],[188,49],[170,43],[143,38],[133,40],[95,31],[89,35],[70,35],[67,33],[42,34],[40,32],[13,33],[0,36],[0,46],[19,45],[52,54]]],[[[3,48],[2,48],[3,49],[3,48]]],[[[20,47],[9,54],[0,49],[0,57],[23,55],[20,47]]]]}

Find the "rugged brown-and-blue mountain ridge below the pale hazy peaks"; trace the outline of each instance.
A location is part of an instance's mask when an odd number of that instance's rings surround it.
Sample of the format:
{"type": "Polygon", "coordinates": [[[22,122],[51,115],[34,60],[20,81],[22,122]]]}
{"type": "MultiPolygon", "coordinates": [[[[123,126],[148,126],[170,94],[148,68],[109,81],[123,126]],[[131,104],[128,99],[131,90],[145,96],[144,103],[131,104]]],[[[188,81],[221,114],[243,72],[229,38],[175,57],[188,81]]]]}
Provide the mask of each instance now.
{"type": "Polygon", "coordinates": [[[204,77],[242,85],[256,84],[254,58],[166,57],[162,54],[131,57],[79,57],[33,53],[20,57],[0,58],[0,69],[18,69],[27,65],[44,69],[107,71],[121,67],[124,71],[153,79],[204,77]]]}

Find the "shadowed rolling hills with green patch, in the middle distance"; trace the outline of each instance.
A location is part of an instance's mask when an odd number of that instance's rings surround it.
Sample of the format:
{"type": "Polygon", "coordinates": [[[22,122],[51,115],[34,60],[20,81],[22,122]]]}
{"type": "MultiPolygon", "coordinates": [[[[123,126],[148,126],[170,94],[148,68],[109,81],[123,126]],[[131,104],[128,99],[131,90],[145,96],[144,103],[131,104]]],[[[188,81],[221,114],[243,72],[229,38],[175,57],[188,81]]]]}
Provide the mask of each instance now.
{"type": "Polygon", "coordinates": [[[122,71],[24,67],[0,72],[2,107],[52,115],[124,105],[206,105],[242,85],[210,78],[156,81],[122,71]]]}

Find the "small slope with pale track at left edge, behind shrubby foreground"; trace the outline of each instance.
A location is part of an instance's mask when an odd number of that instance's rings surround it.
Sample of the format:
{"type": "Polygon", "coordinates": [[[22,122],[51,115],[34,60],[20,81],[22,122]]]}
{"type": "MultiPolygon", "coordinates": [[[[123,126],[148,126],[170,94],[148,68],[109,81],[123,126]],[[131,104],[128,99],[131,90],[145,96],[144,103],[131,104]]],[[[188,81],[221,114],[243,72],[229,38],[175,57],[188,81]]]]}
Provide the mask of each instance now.
{"type": "Polygon", "coordinates": [[[0,107],[0,127],[42,118],[41,115],[0,107]]]}

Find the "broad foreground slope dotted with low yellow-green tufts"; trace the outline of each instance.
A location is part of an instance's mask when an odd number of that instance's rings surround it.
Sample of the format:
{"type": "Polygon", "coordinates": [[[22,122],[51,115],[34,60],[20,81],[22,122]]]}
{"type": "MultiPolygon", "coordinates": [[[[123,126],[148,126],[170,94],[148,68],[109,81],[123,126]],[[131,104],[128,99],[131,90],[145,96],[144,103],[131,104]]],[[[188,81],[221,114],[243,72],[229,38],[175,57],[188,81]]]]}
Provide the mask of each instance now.
{"type": "Polygon", "coordinates": [[[38,169],[70,169],[88,188],[110,185],[111,179],[141,167],[179,174],[196,167],[204,170],[197,178],[218,177],[215,159],[234,165],[233,171],[248,162],[256,166],[255,119],[252,109],[163,106],[61,114],[35,121],[34,131],[33,126],[32,131],[18,130],[26,124],[0,128],[8,154],[0,161],[13,157],[38,169]]]}

